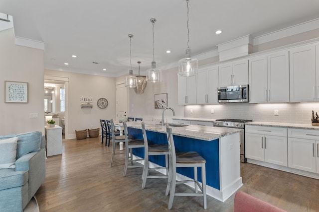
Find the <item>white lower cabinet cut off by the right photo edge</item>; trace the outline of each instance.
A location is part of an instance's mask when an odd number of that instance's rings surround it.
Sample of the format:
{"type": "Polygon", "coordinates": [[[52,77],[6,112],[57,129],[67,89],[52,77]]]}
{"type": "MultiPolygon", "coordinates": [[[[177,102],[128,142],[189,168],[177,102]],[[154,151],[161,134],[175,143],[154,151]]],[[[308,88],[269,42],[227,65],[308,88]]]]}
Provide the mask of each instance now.
{"type": "Polygon", "coordinates": [[[319,173],[319,131],[288,129],[288,167],[319,173]]]}

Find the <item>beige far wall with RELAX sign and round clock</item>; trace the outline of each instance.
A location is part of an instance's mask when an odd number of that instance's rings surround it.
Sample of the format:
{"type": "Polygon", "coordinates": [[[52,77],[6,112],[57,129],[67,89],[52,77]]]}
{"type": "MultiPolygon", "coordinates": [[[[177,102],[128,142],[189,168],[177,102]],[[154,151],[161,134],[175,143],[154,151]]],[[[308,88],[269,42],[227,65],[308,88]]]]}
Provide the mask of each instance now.
{"type": "MultiPolygon", "coordinates": [[[[66,139],[75,138],[75,130],[101,128],[100,119],[115,119],[115,78],[65,71],[44,70],[45,75],[69,77],[68,82],[68,131],[66,139]],[[92,108],[81,108],[81,97],[93,97],[92,108]],[[108,100],[108,107],[97,106],[99,98],[108,100]]],[[[42,83],[43,90],[43,83],[42,83]]],[[[67,128],[66,128],[67,129],[67,128]]]]}

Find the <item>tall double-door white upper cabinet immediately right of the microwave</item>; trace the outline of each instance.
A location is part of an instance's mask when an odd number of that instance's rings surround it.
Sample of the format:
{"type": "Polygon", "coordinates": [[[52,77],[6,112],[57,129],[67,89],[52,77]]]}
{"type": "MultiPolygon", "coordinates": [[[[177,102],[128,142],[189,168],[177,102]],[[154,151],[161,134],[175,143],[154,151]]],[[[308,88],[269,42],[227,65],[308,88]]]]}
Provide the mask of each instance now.
{"type": "Polygon", "coordinates": [[[289,102],[288,51],[249,59],[250,103],[289,102]]]}

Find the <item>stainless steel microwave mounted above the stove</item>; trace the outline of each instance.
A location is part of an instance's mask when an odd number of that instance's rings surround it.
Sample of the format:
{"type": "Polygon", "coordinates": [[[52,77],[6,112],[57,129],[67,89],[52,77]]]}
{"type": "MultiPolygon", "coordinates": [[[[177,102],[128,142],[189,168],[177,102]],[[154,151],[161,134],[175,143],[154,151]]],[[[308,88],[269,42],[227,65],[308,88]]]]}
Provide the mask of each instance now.
{"type": "Polygon", "coordinates": [[[248,85],[219,87],[218,102],[249,102],[248,85]]]}

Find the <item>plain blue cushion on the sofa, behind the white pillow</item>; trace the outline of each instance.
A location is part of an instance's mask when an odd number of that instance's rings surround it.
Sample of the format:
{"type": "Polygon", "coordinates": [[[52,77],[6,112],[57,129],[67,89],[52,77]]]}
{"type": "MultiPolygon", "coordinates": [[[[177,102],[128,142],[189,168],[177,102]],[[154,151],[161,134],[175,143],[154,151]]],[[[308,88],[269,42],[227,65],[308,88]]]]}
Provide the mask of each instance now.
{"type": "Polygon", "coordinates": [[[16,136],[18,137],[16,159],[29,152],[40,150],[42,136],[40,132],[18,134],[16,136]]]}

